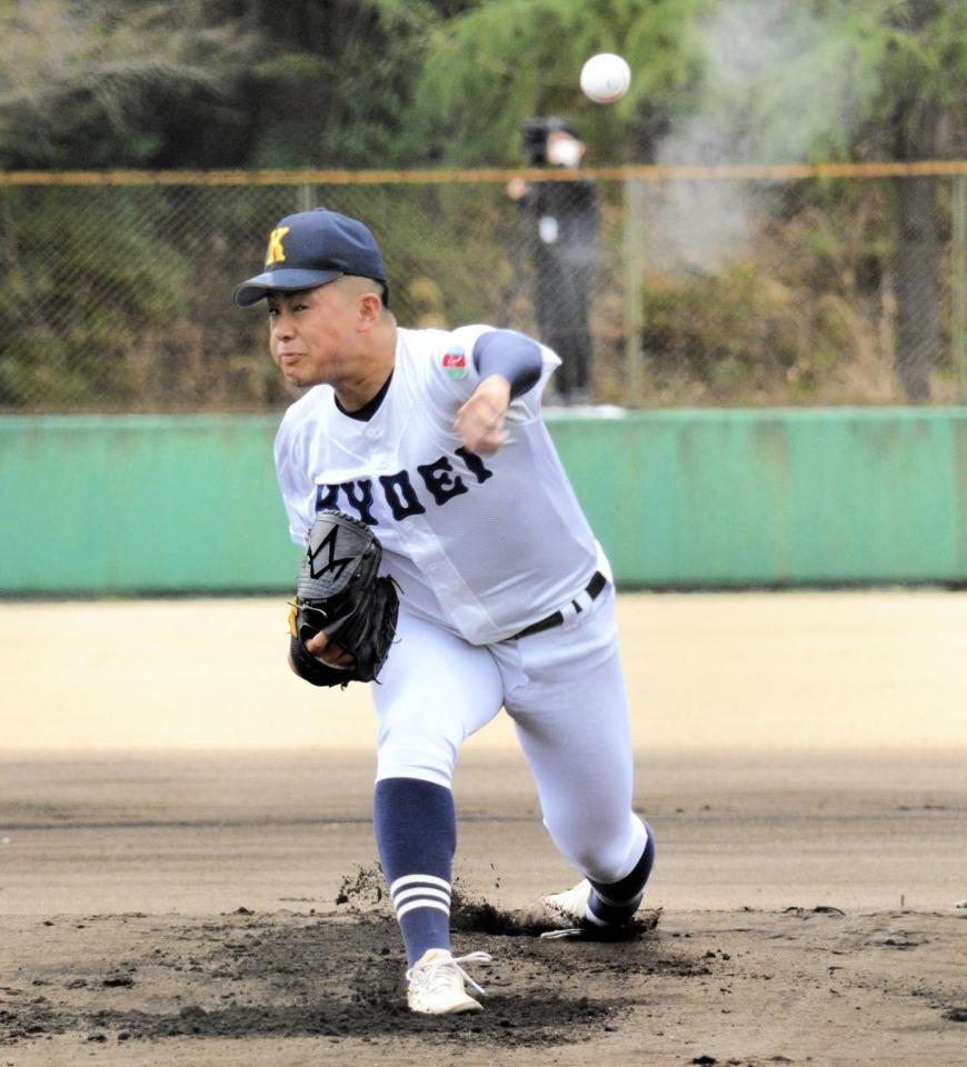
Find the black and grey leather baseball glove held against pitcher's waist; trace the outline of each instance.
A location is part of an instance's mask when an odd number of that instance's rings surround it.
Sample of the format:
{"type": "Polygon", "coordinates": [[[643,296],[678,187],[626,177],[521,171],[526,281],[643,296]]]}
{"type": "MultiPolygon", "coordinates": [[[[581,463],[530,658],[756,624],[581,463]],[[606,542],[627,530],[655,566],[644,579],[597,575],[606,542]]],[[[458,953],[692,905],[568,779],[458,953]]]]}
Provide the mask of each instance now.
{"type": "Polygon", "coordinates": [[[399,597],[392,578],[377,577],[382,547],[363,522],[345,511],[320,511],[289,601],[289,652],[300,678],[313,686],[372,681],[396,634],[399,597]],[[353,657],[346,667],[323,664],[306,641],[326,635],[353,657]]]}

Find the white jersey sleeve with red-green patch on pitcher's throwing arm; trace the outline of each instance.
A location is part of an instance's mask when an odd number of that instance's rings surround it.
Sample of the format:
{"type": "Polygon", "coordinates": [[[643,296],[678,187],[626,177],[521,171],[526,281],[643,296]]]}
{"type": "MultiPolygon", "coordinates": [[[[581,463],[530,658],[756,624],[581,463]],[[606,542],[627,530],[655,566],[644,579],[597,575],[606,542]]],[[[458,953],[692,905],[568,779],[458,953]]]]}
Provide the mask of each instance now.
{"type": "MultiPolygon", "coordinates": [[[[427,393],[430,402],[443,417],[452,417],[466,403],[481,375],[473,360],[473,346],[492,326],[463,326],[450,332],[440,331],[425,366],[427,393]]],[[[532,340],[532,338],[531,338],[532,340]]],[[[540,415],[540,395],[548,378],[560,366],[560,358],[547,346],[535,341],[540,349],[541,371],[537,382],[515,398],[508,409],[508,419],[528,422],[540,415]]]]}

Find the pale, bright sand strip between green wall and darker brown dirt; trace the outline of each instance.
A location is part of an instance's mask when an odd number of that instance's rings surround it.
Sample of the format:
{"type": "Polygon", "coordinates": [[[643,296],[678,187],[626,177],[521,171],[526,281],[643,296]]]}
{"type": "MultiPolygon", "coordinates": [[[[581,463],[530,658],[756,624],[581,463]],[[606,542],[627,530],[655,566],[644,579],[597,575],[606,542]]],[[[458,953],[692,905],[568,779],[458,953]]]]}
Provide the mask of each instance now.
{"type": "MultiPolygon", "coordinates": [[[[369,697],[279,669],[273,600],[0,602],[0,750],[322,747],[373,737],[369,697]]],[[[622,596],[647,751],[967,747],[967,592],[622,596]]],[[[515,747],[507,721],[471,741],[515,747]]]]}

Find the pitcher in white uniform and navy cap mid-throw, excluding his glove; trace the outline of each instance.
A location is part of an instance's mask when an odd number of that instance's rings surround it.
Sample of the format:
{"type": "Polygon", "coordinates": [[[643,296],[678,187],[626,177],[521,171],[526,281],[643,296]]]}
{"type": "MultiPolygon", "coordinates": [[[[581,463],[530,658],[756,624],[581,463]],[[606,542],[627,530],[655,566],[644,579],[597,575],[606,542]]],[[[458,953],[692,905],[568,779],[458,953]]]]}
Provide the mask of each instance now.
{"type": "MultiPolygon", "coordinates": [[[[545,825],[581,876],[542,898],[568,926],[617,926],[651,870],[631,810],[631,742],[608,561],[540,419],[559,363],[489,326],[409,330],[389,310],[372,233],[319,208],[272,230],[265,270],[235,292],[267,301],[272,359],[307,391],[286,412],[276,466],[292,539],[317,513],[376,535],[399,590],[396,638],[371,686],[373,822],[406,946],[411,1010],[476,1011],[450,951],[451,795],[461,744],[514,719],[545,825]]],[[[331,556],[331,552],[330,552],[331,556]]],[[[320,631],[303,659],[349,670],[320,631]]],[[[311,680],[311,678],[310,678],[311,680]]]]}

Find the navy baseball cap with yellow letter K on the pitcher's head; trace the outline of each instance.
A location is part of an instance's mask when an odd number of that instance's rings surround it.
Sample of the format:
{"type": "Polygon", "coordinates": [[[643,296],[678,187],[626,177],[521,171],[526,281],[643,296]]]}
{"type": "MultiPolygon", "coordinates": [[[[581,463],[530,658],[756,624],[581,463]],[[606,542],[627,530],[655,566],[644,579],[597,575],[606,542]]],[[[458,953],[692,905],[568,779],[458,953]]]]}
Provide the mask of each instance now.
{"type": "Polygon", "coordinates": [[[326,208],[300,211],[269,235],[266,270],[236,288],[235,302],[250,308],[273,289],[312,289],[342,275],[373,278],[389,292],[379,246],[367,227],[326,208]]]}

